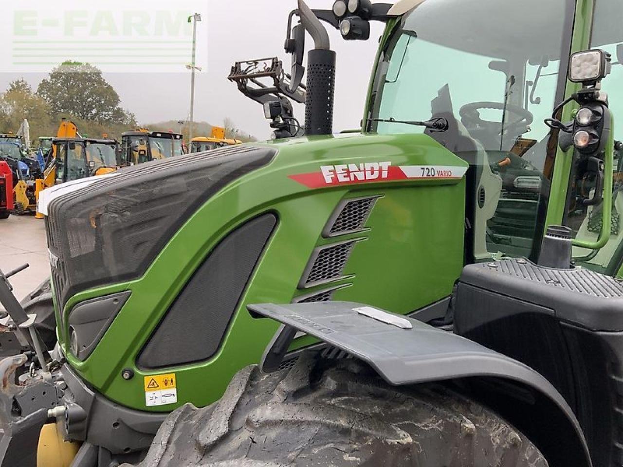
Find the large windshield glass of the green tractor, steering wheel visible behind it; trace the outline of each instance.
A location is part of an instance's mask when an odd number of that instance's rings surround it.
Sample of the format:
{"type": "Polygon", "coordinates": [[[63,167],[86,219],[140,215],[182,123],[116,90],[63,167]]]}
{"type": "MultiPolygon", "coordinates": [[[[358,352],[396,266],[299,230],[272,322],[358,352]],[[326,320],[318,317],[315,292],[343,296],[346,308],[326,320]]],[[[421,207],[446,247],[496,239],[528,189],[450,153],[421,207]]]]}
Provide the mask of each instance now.
{"type": "Polygon", "coordinates": [[[471,260],[536,255],[555,151],[543,120],[563,97],[573,11],[570,0],[425,0],[381,54],[368,130],[427,133],[470,164],[471,260]],[[373,121],[438,117],[444,133],[373,121]]]}

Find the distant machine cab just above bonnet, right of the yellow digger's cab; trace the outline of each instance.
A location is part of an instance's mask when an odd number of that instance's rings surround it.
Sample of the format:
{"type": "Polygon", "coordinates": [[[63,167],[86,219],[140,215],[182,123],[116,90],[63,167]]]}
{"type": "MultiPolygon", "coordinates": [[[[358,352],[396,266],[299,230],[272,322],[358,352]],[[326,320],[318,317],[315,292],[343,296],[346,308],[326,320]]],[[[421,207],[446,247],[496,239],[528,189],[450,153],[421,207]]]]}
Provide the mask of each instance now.
{"type": "Polygon", "coordinates": [[[118,165],[134,166],[155,159],[184,154],[183,136],[179,133],[138,130],[121,135],[118,165]]]}

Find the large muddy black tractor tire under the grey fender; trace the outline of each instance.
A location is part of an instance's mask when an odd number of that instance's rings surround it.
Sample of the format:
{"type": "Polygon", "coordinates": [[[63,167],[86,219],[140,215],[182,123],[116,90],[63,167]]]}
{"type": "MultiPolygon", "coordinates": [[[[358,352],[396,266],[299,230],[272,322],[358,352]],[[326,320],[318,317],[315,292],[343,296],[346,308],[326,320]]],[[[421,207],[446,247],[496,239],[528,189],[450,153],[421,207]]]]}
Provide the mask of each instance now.
{"type": "MultiPolygon", "coordinates": [[[[545,467],[524,435],[444,384],[393,387],[353,359],[240,370],[161,425],[140,467],[545,467]]],[[[129,465],[126,465],[129,467],[129,465]]]]}

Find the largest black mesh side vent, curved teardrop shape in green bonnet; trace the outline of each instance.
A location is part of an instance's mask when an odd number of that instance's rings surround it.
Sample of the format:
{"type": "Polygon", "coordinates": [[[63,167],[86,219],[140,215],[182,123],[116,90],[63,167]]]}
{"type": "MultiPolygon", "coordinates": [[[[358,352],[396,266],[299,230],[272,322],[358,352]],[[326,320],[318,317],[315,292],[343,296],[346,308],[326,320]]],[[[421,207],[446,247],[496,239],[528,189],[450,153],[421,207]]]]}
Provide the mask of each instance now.
{"type": "Polygon", "coordinates": [[[275,225],[275,215],[263,214],[221,240],[167,311],[138,366],[178,366],[204,361],[218,351],[275,225]]]}

